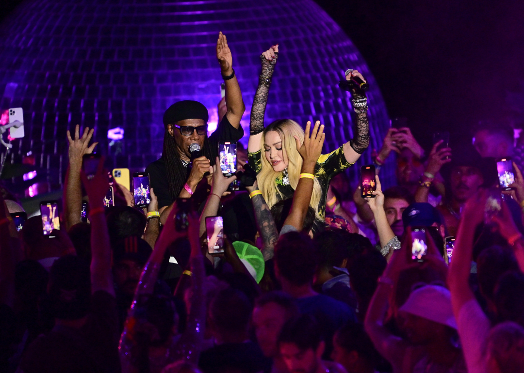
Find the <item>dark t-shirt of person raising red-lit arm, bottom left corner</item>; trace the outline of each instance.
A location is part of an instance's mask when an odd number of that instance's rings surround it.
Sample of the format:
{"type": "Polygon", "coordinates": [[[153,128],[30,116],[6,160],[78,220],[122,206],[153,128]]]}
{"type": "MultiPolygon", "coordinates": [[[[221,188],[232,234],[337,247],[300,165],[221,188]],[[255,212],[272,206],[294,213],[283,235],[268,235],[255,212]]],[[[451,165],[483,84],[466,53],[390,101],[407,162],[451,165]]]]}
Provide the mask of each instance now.
{"type": "Polygon", "coordinates": [[[100,290],[91,296],[88,320],[79,329],[55,325],[33,341],[20,361],[24,373],[119,372],[115,297],[100,290]]]}

